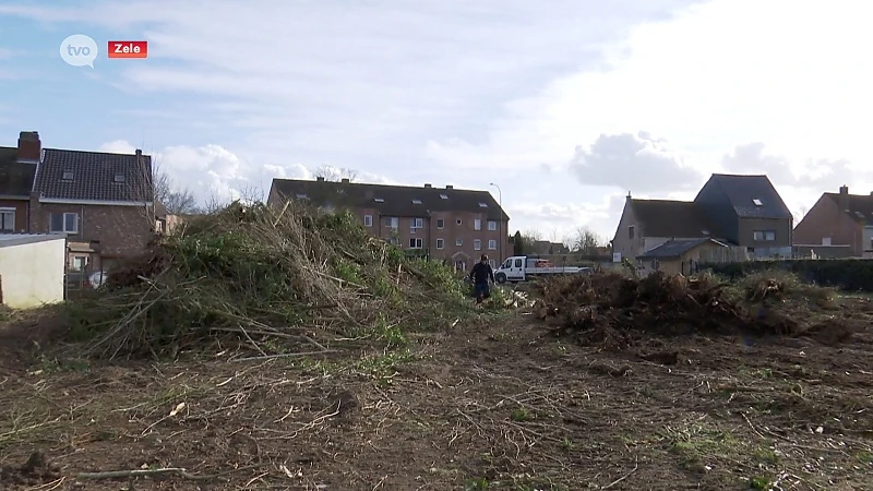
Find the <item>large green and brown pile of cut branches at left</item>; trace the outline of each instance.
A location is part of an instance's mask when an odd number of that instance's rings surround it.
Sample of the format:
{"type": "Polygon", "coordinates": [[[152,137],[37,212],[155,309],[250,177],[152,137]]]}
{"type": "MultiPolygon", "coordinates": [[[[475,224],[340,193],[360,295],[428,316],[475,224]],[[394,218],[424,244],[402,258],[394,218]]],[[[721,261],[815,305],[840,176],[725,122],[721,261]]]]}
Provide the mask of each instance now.
{"type": "Polygon", "coordinates": [[[299,339],[291,334],[392,326],[426,313],[422,304],[461,301],[450,271],[407,259],[358,221],[235,202],[115,268],[105,288],[70,306],[72,332],[92,340],[89,356],[167,356],[222,333],[299,339]]]}

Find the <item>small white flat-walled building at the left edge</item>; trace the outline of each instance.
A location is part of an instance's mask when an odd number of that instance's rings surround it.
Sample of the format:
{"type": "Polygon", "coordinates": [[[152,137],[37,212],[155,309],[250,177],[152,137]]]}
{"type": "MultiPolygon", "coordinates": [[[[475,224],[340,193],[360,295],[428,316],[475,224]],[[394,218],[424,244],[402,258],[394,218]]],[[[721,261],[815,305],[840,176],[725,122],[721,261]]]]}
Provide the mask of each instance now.
{"type": "Polygon", "coordinates": [[[28,309],[62,302],[67,236],[0,233],[0,303],[28,309]]]}

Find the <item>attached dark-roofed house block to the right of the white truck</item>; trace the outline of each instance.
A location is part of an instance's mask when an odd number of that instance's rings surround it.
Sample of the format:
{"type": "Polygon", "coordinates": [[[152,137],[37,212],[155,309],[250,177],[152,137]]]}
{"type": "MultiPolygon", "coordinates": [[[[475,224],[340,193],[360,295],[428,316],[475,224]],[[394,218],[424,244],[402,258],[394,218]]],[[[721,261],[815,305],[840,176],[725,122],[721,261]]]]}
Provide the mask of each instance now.
{"type": "Polygon", "coordinates": [[[790,255],[792,221],[766,176],[714,173],[694,201],[638,200],[629,193],[612,239],[613,258],[643,259],[667,242],[695,239],[727,246],[731,259],[740,247],[754,256],[790,255]]]}

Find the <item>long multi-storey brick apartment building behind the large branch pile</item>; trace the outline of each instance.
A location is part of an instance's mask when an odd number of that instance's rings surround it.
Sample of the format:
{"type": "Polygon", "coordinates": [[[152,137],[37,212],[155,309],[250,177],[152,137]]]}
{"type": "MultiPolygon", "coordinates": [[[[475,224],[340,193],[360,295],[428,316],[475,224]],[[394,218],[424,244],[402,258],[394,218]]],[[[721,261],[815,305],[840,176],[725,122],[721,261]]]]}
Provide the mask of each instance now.
{"type": "Polygon", "coordinates": [[[488,191],[274,179],[267,204],[280,207],[287,199],[348,209],[374,237],[461,271],[469,271],[483,253],[492,266],[512,255],[510,217],[488,191]]]}

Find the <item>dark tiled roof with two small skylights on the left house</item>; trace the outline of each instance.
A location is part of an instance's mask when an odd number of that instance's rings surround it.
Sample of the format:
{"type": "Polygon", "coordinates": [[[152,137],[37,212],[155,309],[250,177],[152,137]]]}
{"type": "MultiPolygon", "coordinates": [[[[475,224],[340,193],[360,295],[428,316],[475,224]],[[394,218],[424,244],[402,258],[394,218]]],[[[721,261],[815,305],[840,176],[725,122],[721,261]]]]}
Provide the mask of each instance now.
{"type": "Polygon", "coordinates": [[[45,148],[34,191],[51,200],[152,202],[152,157],[45,148]]]}

